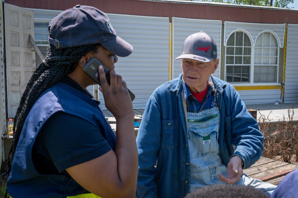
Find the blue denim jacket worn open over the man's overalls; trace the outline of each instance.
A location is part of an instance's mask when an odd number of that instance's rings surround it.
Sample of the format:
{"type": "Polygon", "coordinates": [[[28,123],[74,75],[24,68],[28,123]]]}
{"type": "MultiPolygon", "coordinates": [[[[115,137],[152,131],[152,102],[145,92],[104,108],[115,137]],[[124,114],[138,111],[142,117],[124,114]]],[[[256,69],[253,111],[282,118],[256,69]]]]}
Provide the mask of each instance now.
{"type": "MultiPolygon", "coordinates": [[[[227,166],[237,155],[243,169],[248,168],[262,155],[263,135],[234,87],[213,76],[211,80],[220,108],[220,156],[227,166]]],[[[189,193],[191,167],[182,91],[180,74],[160,85],[147,102],[137,136],[136,197],[183,198],[189,193]]]]}

